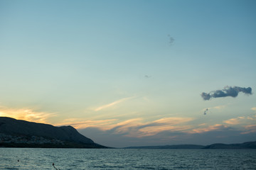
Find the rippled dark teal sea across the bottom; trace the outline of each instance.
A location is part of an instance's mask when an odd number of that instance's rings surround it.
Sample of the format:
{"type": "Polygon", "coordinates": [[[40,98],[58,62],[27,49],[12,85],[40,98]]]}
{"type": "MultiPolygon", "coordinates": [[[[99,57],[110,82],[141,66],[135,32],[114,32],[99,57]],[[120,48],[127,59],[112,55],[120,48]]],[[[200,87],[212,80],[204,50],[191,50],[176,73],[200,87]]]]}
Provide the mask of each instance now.
{"type": "Polygon", "coordinates": [[[256,149],[0,148],[0,169],[256,169],[256,149]]]}

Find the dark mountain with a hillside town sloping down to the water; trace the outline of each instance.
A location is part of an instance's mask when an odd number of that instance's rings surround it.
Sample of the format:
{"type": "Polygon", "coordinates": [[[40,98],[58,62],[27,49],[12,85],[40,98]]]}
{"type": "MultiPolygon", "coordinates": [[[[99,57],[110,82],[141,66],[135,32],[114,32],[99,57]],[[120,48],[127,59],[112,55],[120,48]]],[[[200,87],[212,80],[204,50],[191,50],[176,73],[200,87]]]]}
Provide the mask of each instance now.
{"type": "Polygon", "coordinates": [[[72,126],[55,127],[7,117],[0,117],[0,147],[104,148],[72,126]]]}

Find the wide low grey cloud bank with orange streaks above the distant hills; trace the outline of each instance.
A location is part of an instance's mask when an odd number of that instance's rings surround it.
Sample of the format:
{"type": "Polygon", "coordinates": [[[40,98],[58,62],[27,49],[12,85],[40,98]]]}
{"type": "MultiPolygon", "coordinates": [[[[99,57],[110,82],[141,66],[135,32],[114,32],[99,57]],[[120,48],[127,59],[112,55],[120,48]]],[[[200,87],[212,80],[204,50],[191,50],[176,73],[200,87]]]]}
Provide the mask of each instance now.
{"type": "MultiPolygon", "coordinates": [[[[203,123],[193,125],[193,118],[167,117],[145,121],[144,118],[128,120],[92,120],[87,128],[78,129],[101,145],[129,147],[139,145],[203,144],[214,142],[245,142],[255,139],[256,125],[245,118],[245,125],[233,128],[232,124],[203,123]],[[93,121],[98,123],[93,125],[93,121]]],[[[230,119],[231,121],[231,119],[230,119]]],[[[89,122],[88,122],[89,123],[89,122]]]]}

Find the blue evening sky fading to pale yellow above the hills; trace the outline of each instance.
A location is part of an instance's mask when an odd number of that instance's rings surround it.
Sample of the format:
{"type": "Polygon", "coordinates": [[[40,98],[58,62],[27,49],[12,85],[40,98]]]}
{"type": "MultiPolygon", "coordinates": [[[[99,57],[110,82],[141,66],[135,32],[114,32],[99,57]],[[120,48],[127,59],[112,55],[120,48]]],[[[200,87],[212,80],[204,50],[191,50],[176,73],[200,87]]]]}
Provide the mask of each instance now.
{"type": "Polygon", "coordinates": [[[108,147],[255,141],[255,8],[0,0],[0,116],[108,147]]]}

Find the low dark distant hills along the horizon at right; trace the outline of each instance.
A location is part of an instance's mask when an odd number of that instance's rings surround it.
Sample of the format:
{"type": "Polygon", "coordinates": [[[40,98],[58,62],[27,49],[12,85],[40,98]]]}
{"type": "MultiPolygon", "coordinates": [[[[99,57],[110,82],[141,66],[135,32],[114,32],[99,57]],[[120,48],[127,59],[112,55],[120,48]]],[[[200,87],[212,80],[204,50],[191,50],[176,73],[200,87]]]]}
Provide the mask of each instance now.
{"type": "Polygon", "coordinates": [[[125,149],[256,149],[255,142],[244,142],[242,144],[213,144],[213,145],[165,145],[146,147],[125,147],[125,149]]]}

